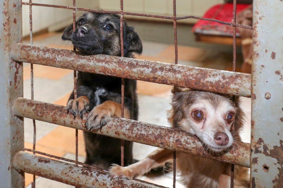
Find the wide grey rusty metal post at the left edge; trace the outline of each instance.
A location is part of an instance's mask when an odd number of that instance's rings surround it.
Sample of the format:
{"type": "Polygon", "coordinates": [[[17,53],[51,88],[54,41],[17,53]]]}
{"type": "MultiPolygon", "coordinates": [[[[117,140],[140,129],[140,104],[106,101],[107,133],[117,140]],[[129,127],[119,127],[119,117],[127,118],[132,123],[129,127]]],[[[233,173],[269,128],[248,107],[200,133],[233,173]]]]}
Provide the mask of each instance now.
{"type": "Polygon", "coordinates": [[[23,63],[10,57],[12,45],[22,42],[22,6],[20,0],[0,4],[0,186],[24,187],[24,173],[12,166],[14,155],[24,150],[23,118],[11,113],[14,99],[23,96],[23,63]]]}

